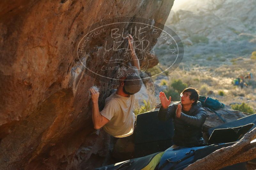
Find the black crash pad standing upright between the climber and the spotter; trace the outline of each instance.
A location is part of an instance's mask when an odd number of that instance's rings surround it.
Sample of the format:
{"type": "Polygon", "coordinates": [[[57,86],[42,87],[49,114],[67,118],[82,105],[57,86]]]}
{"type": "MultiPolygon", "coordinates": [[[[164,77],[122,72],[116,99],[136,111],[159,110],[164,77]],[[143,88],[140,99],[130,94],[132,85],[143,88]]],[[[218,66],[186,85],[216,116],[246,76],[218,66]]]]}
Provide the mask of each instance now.
{"type": "Polygon", "coordinates": [[[158,119],[157,114],[158,110],[137,115],[134,131],[136,157],[164,151],[173,144],[172,119],[163,122],[158,119]]]}

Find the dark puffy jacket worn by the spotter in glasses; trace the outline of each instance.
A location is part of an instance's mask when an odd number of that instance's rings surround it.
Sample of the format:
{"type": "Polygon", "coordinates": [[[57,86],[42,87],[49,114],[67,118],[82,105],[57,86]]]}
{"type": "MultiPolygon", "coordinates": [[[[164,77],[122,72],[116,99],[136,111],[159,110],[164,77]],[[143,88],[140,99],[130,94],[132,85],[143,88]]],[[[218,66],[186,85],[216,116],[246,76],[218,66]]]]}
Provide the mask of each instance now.
{"type": "Polygon", "coordinates": [[[206,111],[198,102],[192,105],[189,112],[181,110],[181,117],[176,117],[177,104],[171,104],[167,109],[162,106],[158,111],[158,118],[162,121],[172,118],[174,123],[173,142],[178,146],[204,144],[202,127],[206,120],[206,111]]]}

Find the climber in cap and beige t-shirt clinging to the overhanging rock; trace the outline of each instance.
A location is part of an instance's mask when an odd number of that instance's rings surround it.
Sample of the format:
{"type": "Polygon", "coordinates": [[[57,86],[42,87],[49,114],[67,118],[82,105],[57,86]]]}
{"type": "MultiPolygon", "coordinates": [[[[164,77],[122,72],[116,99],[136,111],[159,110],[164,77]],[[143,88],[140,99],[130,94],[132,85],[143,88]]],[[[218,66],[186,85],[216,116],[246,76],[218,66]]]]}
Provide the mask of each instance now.
{"type": "Polygon", "coordinates": [[[142,86],[142,80],[139,76],[140,65],[134,50],[133,38],[128,35],[127,39],[132,52],[132,67],[127,69],[126,76],[120,78],[118,89],[106,98],[102,111],[99,111],[98,107],[99,92],[94,88],[89,89],[93,103],[92,121],[94,128],[103,127],[107,133],[116,138],[126,137],[133,133],[135,122],[134,94],[142,86]]]}

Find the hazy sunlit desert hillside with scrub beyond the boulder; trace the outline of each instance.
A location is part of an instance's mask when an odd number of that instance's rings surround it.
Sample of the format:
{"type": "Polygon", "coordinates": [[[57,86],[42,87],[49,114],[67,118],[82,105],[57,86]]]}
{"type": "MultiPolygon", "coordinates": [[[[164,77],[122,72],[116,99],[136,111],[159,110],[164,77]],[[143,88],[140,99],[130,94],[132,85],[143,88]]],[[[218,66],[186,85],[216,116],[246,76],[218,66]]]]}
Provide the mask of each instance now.
{"type": "MultiPolygon", "coordinates": [[[[182,40],[184,55],[177,69],[155,79],[154,102],[159,102],[159,91],[174,91],[170,86],[180,79],[184,87],[195,87],[200,95],[217,98],[228,109],[231,104],[244,102],[255,112],[256,2],[195,2],[198,1],[175,2],[167,19],[166,25],[182,40]],[[248,73],[254,78],[246,79],[248,73]],[[248,85],[243,89],[233,85],[234,79],[241,76],[248,85]]],[[[161,72],[172,64],[167,45],[161,39],[155,53],[159,64],[149,72],[161,72]]],[[[169,94],[179,98],[178,93],[169,94]]]]}

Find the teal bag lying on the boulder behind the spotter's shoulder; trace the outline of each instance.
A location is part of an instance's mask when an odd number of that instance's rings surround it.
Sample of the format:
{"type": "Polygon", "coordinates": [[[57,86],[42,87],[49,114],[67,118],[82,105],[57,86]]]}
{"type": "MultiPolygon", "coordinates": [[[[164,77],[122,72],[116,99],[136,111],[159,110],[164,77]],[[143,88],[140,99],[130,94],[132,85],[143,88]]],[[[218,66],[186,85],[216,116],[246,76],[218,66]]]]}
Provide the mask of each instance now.
{"type": "Polygon", "coordinates": [[[212,110],[225,108],[224,103],[221,103],[218,99],[213,99],[212,97],[199,96],[199,101],[204,107],[210,108],[212,110]]]}

